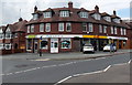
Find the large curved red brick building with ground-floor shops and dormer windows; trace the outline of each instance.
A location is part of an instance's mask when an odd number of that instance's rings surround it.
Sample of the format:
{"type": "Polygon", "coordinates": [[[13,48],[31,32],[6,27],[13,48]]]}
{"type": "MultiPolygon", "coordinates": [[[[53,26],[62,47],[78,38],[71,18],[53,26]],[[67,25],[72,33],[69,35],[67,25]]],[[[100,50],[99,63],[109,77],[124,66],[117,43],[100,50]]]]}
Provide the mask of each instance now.
{"type": "Polygon", "coordinates": [[[26,52],[59,53],[81,51],[86,43],[91,43],[101,51],[106,44],[116,43],[118,49],[129,49],[130,26],[125,24],[116,11],[110,15],[95,10],[74,8],[48,8],[44,11],[34,8],[33,19],[28,23],[26,52]],[[112,41],[111,41],[112,40],[112,41]]]}

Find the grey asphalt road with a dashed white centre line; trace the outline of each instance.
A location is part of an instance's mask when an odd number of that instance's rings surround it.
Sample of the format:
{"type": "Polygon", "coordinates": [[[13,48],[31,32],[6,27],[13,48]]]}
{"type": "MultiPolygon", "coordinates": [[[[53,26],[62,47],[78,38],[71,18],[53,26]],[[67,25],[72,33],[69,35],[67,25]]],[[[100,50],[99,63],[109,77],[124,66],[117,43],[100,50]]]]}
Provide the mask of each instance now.
{"type": "Polygon", "coordinates": [[[130,54],[92,60],[30,61],[3,60],[3,83],[57,83],[80,73],[105,70],[107,66],[130,61],[130,54]]]}

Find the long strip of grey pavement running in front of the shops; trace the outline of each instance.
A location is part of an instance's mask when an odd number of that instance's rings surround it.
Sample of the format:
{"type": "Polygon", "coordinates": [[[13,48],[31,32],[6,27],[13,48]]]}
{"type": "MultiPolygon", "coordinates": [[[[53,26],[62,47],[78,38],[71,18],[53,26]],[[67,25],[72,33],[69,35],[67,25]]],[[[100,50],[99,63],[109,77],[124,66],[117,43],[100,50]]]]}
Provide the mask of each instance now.
{"type": "Polygon", "coordinates": [[[68,52],[68,53],[58,53],[58,54],[43,53],[42,56],[40,56],[38,53],[16,53],[16,54],[2,55],[0,56],[0,59],[2,60],[33,60],[33,61],[85,60],[85,59],[97,59],[97,57],[124,54],[124,53],[130,53],[130,52],[132,52],[132,50],[118,50],[114,53],[97,51],[95,53],[87,53],[87,54],[82,54],[82,52],[68,52]]]}

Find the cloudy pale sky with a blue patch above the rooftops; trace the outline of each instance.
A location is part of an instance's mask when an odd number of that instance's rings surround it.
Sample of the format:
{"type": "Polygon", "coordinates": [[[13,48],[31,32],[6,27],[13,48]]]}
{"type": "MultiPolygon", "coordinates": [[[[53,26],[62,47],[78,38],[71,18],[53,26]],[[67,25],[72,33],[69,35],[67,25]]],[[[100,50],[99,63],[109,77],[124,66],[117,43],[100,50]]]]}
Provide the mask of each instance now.
{"type": "Polygon", "coordinates": [[[0,25],[16,22],[20,17],[30,20],[34,6],[37,6],[38,10],[45,10],[67,7],[69,1],[74,2],[74,8],[94,10],[97,4],[100,12],[112,14],[112,11],[117,10],[118,15],[122,19],[130,18],[130,2],[132,0],[0,0],[0,25]]]}

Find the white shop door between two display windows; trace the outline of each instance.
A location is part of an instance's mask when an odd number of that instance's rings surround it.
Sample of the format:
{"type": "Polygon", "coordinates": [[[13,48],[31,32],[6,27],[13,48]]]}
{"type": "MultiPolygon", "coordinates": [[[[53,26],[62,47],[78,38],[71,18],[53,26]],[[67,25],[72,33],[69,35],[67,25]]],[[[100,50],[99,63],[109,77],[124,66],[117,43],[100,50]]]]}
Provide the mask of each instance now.
{"type": "Polygon", "coordinates": [[[58,53],[58,39],[51,39],[51,53],[58,53]]]}

